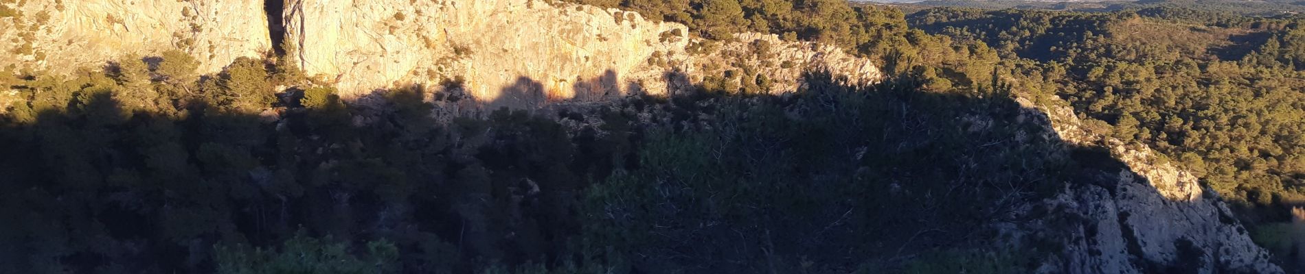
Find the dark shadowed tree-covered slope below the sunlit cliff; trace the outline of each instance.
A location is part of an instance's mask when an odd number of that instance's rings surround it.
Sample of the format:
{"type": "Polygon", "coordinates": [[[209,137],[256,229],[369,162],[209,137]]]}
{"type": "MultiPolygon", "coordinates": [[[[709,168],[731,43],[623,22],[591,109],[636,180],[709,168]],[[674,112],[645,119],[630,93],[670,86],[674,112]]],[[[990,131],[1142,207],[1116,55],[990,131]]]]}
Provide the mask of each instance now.
{"type": "MultiPolygon", "coordinates": [[[[609,99],[612,79],[583,96],[609,99]]],[[[204,273],[215,244],[275,248],[299,230],[388,239],[403,273],[1027,269],[1056,239],[1002,249],[984,225],[1052,218],[1017,213],[1061,182],[1112,188],[1122,166],[1039,138],[1045,125],[1001,93],[808,81],[791,96],[632,96],[448,125],[423,88],[350,104],[294,88],[257,113],[202,97],[157,112],[95,88],[33,100],[30,119],[0,114],[0,270],[204,273]]],[[[547,103],[521,78],[488,105],[547,103]]]]}

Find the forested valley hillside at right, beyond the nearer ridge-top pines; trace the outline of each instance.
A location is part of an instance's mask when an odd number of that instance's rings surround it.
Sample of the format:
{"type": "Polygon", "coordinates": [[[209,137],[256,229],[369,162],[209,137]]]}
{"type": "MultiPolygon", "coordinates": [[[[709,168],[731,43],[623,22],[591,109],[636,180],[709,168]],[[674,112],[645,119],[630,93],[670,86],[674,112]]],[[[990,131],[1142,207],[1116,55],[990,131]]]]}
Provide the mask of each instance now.
{"type": "MultiPolygon", "coordinates": [[[[998,49],[1031,93],[1083,129],[1146,145],[1207,187],[1275,260],[1298,269],[1291,212],[1305,182],[1300,16],[1151,6],[1109,13],[928,9],[908,21],[998,49]],[[1051,49],[1051,51],[1047,51],[1051,49]]],[[[1188,183],[1190,186],[1190,183],[1188,183]]]]}

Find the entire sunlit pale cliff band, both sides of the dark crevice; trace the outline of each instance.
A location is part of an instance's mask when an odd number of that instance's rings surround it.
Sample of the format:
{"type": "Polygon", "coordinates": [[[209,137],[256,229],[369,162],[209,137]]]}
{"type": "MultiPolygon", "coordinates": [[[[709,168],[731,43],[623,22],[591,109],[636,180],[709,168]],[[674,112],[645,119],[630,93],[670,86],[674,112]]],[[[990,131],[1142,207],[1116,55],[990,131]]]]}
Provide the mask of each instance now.
{"type": "Polygon", "coordinates": [[[676,93],[702,81],[782,93],[800,87],[805,69],[831,70],[861,83],[880,78],[873,62],[831,45],[762,34],[707,42],[689,38],[680,23],[543,0],[0,5],[18,12],[0,17],[0,48],[13,53],[0,57],[0,68],[13,71],[78,68],[177,48],[198,58],[200,73],[217,73],[238,57],[271,56],[283,38],[286,58],[351,100],[422,86],[475,99],[478,108],[536,108],[676,93]]]}

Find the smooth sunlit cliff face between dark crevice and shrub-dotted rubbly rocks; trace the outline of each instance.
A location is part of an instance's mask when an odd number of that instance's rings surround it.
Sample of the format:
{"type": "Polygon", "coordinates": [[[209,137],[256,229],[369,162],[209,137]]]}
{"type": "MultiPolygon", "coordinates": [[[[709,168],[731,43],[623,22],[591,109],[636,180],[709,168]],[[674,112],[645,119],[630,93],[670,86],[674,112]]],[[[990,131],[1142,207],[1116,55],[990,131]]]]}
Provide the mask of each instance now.
{"type": "Polygon", "coordinates": [[[688,44],[663,36],[686,34],[681,25],[530,0],[292,0],[284,14],[292,57],[347,95],[463,81],[476,99],[529,103],[583,96],[603,77],[592,88],[611,93],[659,77],[646,60],[688,44]]]}

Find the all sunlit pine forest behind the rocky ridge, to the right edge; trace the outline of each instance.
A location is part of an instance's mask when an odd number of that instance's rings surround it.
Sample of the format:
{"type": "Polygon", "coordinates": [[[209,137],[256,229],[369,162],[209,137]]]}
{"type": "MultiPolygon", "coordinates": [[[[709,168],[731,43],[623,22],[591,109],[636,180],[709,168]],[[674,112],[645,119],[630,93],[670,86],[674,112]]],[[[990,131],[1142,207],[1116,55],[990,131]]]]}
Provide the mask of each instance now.
{"type": "Polygon", "coordinates": [[[1061,97],[1094,131],[1197,173],[1284,264],[1305,244],[1289,229],[1292,208],[1305,201],[1300,3],[1082,3],[1098,12],[921,3],[903,14],[900,5],[835,0],[576,1],[663,14],[706,38],[746,30],[838,44],[883,60],[893,74],[923,75],[921,90],[975,90],[1000,71],[1015,92],[1061,97]]]}

